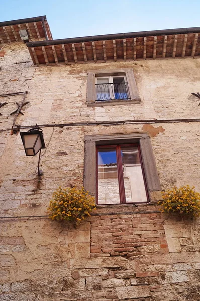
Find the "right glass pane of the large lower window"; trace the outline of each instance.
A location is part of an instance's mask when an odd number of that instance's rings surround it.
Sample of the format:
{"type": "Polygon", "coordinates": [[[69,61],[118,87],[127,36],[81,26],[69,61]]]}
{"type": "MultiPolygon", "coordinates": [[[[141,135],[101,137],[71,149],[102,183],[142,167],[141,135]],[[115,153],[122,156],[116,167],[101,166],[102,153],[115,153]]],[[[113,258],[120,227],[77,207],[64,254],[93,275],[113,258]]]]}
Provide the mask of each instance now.
{"type": "Polygon", "coordinates": [[[121,147],[126,203],[147,202],[137,146],[121,147]]]}

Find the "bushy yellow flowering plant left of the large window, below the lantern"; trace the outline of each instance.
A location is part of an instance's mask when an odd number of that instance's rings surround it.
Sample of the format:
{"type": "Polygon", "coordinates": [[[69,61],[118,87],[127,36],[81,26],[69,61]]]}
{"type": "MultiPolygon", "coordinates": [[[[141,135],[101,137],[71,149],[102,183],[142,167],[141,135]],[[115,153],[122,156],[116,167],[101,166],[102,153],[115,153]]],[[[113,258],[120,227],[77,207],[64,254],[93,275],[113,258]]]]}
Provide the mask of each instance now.
{"type": "Polygon", "coordinates": [[[90,196],[84,187],[78,189],[62,188],[61,186],[53,193],[53,198],[48,207],[49,218],[52,220],[66,220],[78,225],[90,216],[95,208],[94,197],[90,196]]]}

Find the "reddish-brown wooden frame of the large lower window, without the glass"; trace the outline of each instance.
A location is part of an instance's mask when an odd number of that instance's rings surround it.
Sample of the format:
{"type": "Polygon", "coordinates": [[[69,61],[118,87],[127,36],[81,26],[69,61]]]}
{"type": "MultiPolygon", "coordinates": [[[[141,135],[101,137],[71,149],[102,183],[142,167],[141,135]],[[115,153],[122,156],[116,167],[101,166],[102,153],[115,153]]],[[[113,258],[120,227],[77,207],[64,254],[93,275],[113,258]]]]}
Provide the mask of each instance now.
{"type": "Polygon", "coordinates": [[[119,204],[119,203],[98,204],[98,157],[97,157],[98,156],[98,149],[101,149],[101,148],[108,148],[109,149],[111,147],[116,148],[120,204],[137,204],[137,203],[141,204],[141,203],[149,202],[149,195],[148,195],[148,190],[147,190],[147,183],[146,183],[146,178],[145,178],[145,173],[144,173],[144,167],[143,167],[143,162],[142,162],[140,145],[139,145],[139,143],[131,143],[131,144],[115,144],[115,145],[96,145],[96,204],[97,205],[117,205],[117,204],[119,204]],[[144,186],[145,186],[145,191],[146,191],[146,196],[147,196],[147,201],[146,202],[126,202],[126,193],[125,193],[124,177],[123,177],[123,165],[122,165],[122,157],[121,157],[121,154],[120,154],[121,146],[123,146],[123,147],[135,146],[135,147],[138,148],[140,164],[141,164],[141,169],[142,169],[142,175],[143,175],[143,181],[144,181],[144,186]]]}

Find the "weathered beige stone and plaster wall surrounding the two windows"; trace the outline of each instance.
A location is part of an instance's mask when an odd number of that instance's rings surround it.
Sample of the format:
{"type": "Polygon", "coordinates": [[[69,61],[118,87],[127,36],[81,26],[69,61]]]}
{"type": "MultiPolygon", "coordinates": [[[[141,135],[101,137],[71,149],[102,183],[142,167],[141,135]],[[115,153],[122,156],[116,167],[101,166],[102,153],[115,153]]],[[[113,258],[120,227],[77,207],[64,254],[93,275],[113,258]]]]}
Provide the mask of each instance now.
{"type": "MultiPolygon", "coordinates": [[[[0,93],[28,91],[30,103],[17,124],[199,117],[199,100],[191,95],[199,91],[199,59],[54,67],[22,63],[27,61],[22,43],[0,51],[0,93]],[[87,107],[87,71],[126,67],[134,70],[141,103],[87,107]]],[[[59,185],[81,186],[86,134],[148,131],[162,187],[190,184],[200,191],[198,122],[45,127],[48,148],[39,186],[37,158],[25,157],[20,135],[10,135],[14,117],[8,115],[21,96],[0,99],[5,101],[0,108],[5,129],[0,132],[1,216],[45,215],[59,185]]],[[[152,212],[157,210],[153,205],[102,207],[96,212],[104,215],[92,216],[76,230],[47,218],[1,219],[0,300],[200,299],[199,220],[161,217],[152,212]]]]}

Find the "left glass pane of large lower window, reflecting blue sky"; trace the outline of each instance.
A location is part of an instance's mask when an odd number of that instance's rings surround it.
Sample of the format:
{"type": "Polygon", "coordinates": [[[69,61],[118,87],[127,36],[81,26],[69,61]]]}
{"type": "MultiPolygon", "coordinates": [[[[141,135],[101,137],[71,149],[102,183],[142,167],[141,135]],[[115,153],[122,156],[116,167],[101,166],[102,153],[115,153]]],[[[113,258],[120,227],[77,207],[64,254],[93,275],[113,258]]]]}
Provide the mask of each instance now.
{"type": "Polygon", "coordinates": [[[119,203],[116,149],[98,149],[98,204],[119,203]]]}

